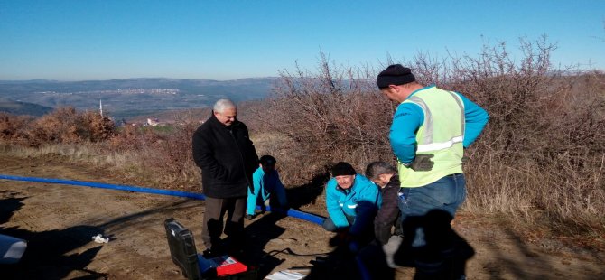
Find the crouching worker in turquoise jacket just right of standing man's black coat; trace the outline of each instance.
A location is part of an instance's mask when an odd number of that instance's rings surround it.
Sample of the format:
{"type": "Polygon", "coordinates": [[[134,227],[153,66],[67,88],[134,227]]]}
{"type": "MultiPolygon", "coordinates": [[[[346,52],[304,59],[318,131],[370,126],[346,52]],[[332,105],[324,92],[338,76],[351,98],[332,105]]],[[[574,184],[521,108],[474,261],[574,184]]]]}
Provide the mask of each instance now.
{"type": "Polygon", "coordinates": [[[268,201],[272,195],[277,197],[280,207],[284,209],[287,207],[284,184],[279,180],[279,173],[275,170],[276,162],[271,155],[260,157],[258,168],[252,174],[254,191],[248,188],[246,219],[254,219],[256,205],[264,206],[265,201],[268,201]]]}

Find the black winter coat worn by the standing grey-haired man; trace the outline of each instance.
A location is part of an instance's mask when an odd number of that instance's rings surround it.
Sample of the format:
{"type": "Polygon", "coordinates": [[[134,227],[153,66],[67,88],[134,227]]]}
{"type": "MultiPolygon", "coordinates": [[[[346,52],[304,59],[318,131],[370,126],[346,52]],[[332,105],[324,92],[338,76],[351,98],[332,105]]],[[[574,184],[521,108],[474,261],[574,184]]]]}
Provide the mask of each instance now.
{"type": "Polygon", "coordinates": [[[201,169],[202,191],[216,199],[247,196],[258,155],[244,123],[225,126],[212,114],[193,134],[193,160],[201,169]]]}

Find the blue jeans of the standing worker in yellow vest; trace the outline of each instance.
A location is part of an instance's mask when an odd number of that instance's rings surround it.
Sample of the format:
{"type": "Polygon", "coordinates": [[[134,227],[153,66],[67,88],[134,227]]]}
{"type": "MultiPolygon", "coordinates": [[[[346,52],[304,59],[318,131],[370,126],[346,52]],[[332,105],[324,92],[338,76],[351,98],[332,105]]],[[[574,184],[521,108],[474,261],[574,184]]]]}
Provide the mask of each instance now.
{"type": "Polygon", "coordinates": [[[466,180],[463,173],[442,177],[418,188],[402,188],[404,198],[399,199],[402,220],[424,216],[430,210],[444,210],[453,218],[466,199],[466,180]]]}

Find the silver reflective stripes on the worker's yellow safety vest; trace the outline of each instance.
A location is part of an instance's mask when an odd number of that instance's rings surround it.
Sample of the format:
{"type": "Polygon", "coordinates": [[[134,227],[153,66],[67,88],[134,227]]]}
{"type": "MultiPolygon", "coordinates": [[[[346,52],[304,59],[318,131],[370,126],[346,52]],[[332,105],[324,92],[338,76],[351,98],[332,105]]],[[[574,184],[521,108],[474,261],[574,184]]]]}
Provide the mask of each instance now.
{"type": "MultiPolygon", "coordinates": [[[[464,105],[463,105],[461,99],[456,94],[452,93],[451,91],[447,91],[447,92],[450,93],[451,98],[456,100],[456,103],[458,104],[458,107],[460,107],[461,112],[464,112],[464,105]]],[[[464,140],[464,113],[462,113],[462,115],[461,115],[461,117],[462,117],[462,119],[461,119],[462,135],[454,136],[451,139],[444,141],[444,142],[433,143],[433,114],[431,113],[431,110],[426,105],[426,103],[424,103],[424,100],[422,98],[413,96],[413,97],[409,98],[408,100],[411,102],[414,102],[414,104],[422,107],[423,111],[424,111],[423,144],[418,144],[416,153],[433,152],[433,151],[439,151],[442,149],[447,149],[456,143],[461,143],[464,140]]]]}

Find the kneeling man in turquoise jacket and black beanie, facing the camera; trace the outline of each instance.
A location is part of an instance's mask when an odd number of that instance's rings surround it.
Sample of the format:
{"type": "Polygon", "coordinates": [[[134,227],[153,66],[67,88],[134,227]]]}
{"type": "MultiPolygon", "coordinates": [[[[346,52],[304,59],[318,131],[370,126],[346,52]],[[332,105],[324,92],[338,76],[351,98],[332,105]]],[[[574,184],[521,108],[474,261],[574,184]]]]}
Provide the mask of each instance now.
{"type": "Polygon", "coordinates": [[[369,242],[374,237],[374,217],[382,200],[377,186],[349,163],[337,163],[331,175],[326,185],[330,217],[323,222],[323,229],[338,232],[340,238],[369,242]]]}

